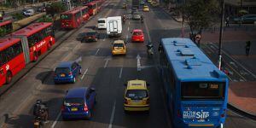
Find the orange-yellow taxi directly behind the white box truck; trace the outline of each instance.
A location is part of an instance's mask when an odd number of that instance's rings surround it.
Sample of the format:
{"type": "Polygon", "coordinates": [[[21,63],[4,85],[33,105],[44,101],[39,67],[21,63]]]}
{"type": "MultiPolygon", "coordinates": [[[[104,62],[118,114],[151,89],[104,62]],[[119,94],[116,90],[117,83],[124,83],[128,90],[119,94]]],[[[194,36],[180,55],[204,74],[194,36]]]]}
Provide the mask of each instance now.
{"type": "Polygon", "coordinates": [[[112,55],[126,55],[126,46],[124,40],[113,41],[112,55]]]}

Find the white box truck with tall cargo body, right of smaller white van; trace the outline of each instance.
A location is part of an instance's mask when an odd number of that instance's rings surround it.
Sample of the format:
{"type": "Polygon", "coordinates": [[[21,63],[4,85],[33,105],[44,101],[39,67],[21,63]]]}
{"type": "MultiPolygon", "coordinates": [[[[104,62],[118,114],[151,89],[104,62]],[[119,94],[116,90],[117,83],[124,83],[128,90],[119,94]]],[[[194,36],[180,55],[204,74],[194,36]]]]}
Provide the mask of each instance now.
{"type": "Polygon", "coordinates": [[[119,37],[122,35],[122,18],[113,16],[107,18],[107,35],[108,37],[119,37]]]}

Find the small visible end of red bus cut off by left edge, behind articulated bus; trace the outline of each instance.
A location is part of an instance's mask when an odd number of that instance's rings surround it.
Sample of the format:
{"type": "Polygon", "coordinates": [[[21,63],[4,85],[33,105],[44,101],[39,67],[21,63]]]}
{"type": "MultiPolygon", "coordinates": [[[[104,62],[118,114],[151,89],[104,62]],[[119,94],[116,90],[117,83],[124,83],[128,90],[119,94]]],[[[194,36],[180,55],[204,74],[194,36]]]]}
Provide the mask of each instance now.
{"type": "Polygon", "coordinates": [[[0,29],[1,29],[1,31],[3,31],[3,32],[0,33],[0,37],[3,37],[4,35],[9,34],[10,32],[12,32],[13,31],[13,22],[12,22],[12,20],[5,20],[3,22],[0,22],[0,29]]]}

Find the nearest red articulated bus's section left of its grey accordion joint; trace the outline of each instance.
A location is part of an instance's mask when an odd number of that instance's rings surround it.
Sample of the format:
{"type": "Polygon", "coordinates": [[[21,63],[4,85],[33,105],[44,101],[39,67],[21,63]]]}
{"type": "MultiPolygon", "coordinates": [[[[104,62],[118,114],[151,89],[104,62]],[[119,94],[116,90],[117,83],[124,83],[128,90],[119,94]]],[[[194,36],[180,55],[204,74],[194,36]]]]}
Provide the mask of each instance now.
{"type": "Polygon", "coordinates": [[[26,65],[20,38],[0,39],[0,86],[9,84],[12,77],[26,65]]]}

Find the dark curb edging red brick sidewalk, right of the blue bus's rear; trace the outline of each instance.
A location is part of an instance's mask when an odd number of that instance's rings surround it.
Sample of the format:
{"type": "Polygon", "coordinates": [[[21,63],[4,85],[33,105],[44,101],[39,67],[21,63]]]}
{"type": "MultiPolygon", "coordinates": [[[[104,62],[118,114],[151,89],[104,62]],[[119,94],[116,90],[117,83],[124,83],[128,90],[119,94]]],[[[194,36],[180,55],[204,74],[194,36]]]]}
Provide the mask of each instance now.
{"type": "Polygon", "coordinates": [[[236,105],[232,104],[231,102],[228,103],[228,108],[230,108],[232,111],[235,111],[236,113],[239,113],[248,119],[256,120],[256,114],[255,113],[249,113],[245,110],[242,110],[241,108],[238,108],[236,105]]]}

